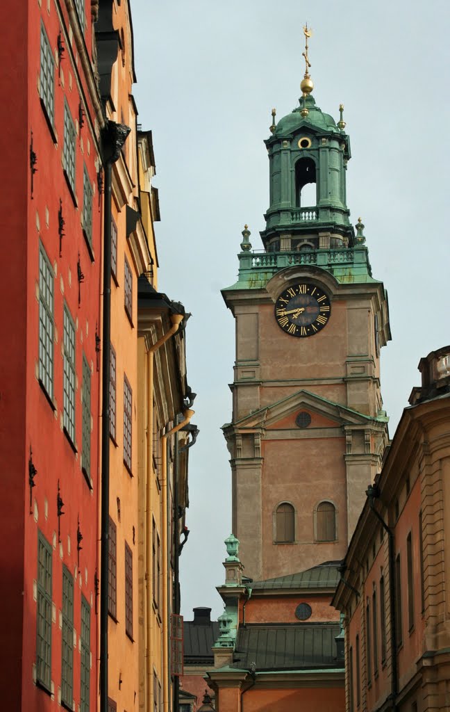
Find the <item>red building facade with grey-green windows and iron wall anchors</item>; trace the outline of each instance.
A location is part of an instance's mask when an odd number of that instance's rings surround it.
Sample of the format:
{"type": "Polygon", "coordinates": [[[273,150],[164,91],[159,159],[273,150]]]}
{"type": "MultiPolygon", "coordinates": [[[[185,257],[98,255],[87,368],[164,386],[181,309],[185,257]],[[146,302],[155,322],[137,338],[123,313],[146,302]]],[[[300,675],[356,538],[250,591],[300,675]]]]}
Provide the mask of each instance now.
{"type": "Polygon", "coordinates": [[[102,112],[95,6],[3,6],[12,19],[0,48],[8,97],[0,659],[9,710],[87,712],[97,696],[102,112]]]}

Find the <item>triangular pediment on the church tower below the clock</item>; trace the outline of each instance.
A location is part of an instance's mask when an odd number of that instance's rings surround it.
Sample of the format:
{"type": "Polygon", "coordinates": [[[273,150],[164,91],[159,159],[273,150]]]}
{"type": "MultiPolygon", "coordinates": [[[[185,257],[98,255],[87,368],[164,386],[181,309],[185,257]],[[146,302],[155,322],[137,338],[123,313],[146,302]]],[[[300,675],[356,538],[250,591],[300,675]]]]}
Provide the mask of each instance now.
{"type": "Polygon", "coordinates": [[[315,427],[340,427],[343,425],[367,425],[372,418],[358,413],[342,404],[334,403],[316,393],[301,389],[290,396],[261,408],[234,425],[242,430],[252,429],[289,429],[295,426],[299,412],[311,415],[311,424],[315,427]]]}

